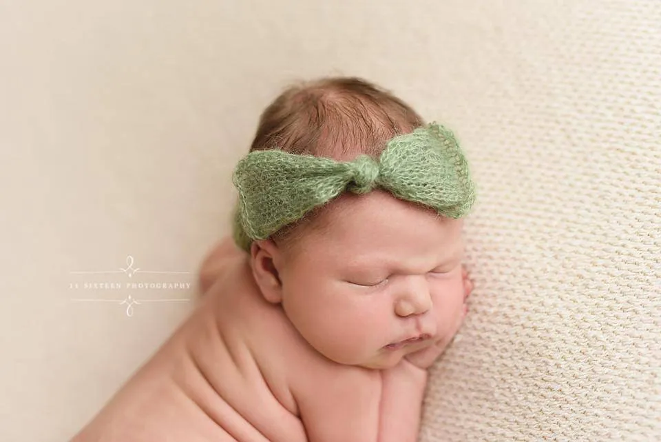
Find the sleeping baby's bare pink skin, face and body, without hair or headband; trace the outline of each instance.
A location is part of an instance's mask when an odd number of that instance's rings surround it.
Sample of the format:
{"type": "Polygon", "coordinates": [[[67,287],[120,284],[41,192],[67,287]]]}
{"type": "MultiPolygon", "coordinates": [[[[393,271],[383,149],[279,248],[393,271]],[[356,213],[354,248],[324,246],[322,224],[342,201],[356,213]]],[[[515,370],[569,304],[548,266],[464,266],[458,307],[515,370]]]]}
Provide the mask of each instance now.
{"type": "Polygon", "coordinates": [[[198,308],[72,442],[416,441],[472,291],[462,221],[341,200],[291,250],[222,241],[198,308]]]}

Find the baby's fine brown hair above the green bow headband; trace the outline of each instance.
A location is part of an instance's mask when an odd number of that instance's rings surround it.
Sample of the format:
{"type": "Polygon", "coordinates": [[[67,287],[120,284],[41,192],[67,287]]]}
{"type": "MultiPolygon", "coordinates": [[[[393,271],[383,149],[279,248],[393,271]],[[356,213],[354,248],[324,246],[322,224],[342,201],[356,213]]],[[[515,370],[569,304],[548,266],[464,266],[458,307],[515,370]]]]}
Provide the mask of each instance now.
{"type": "Polygon", "coordinates": [[[421,125],[419,114],[388,90],[357,77],[325,77],[286,88],[262,113],[250,150],[377,157],[392,137],[421,125]]]}

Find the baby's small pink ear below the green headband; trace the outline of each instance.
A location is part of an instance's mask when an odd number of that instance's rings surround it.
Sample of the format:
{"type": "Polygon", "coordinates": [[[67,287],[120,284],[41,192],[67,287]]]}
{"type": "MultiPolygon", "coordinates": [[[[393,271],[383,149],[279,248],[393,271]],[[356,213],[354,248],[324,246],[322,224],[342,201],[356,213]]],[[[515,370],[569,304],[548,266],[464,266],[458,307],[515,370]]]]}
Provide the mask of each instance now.
{"type": "Polygon", "coordinates": [[[250,246],[251,268],[262,296],[270,303],[282,302],[282,282],[278,274],[280,249],[272,239],[253,241],[250,246]]]}

